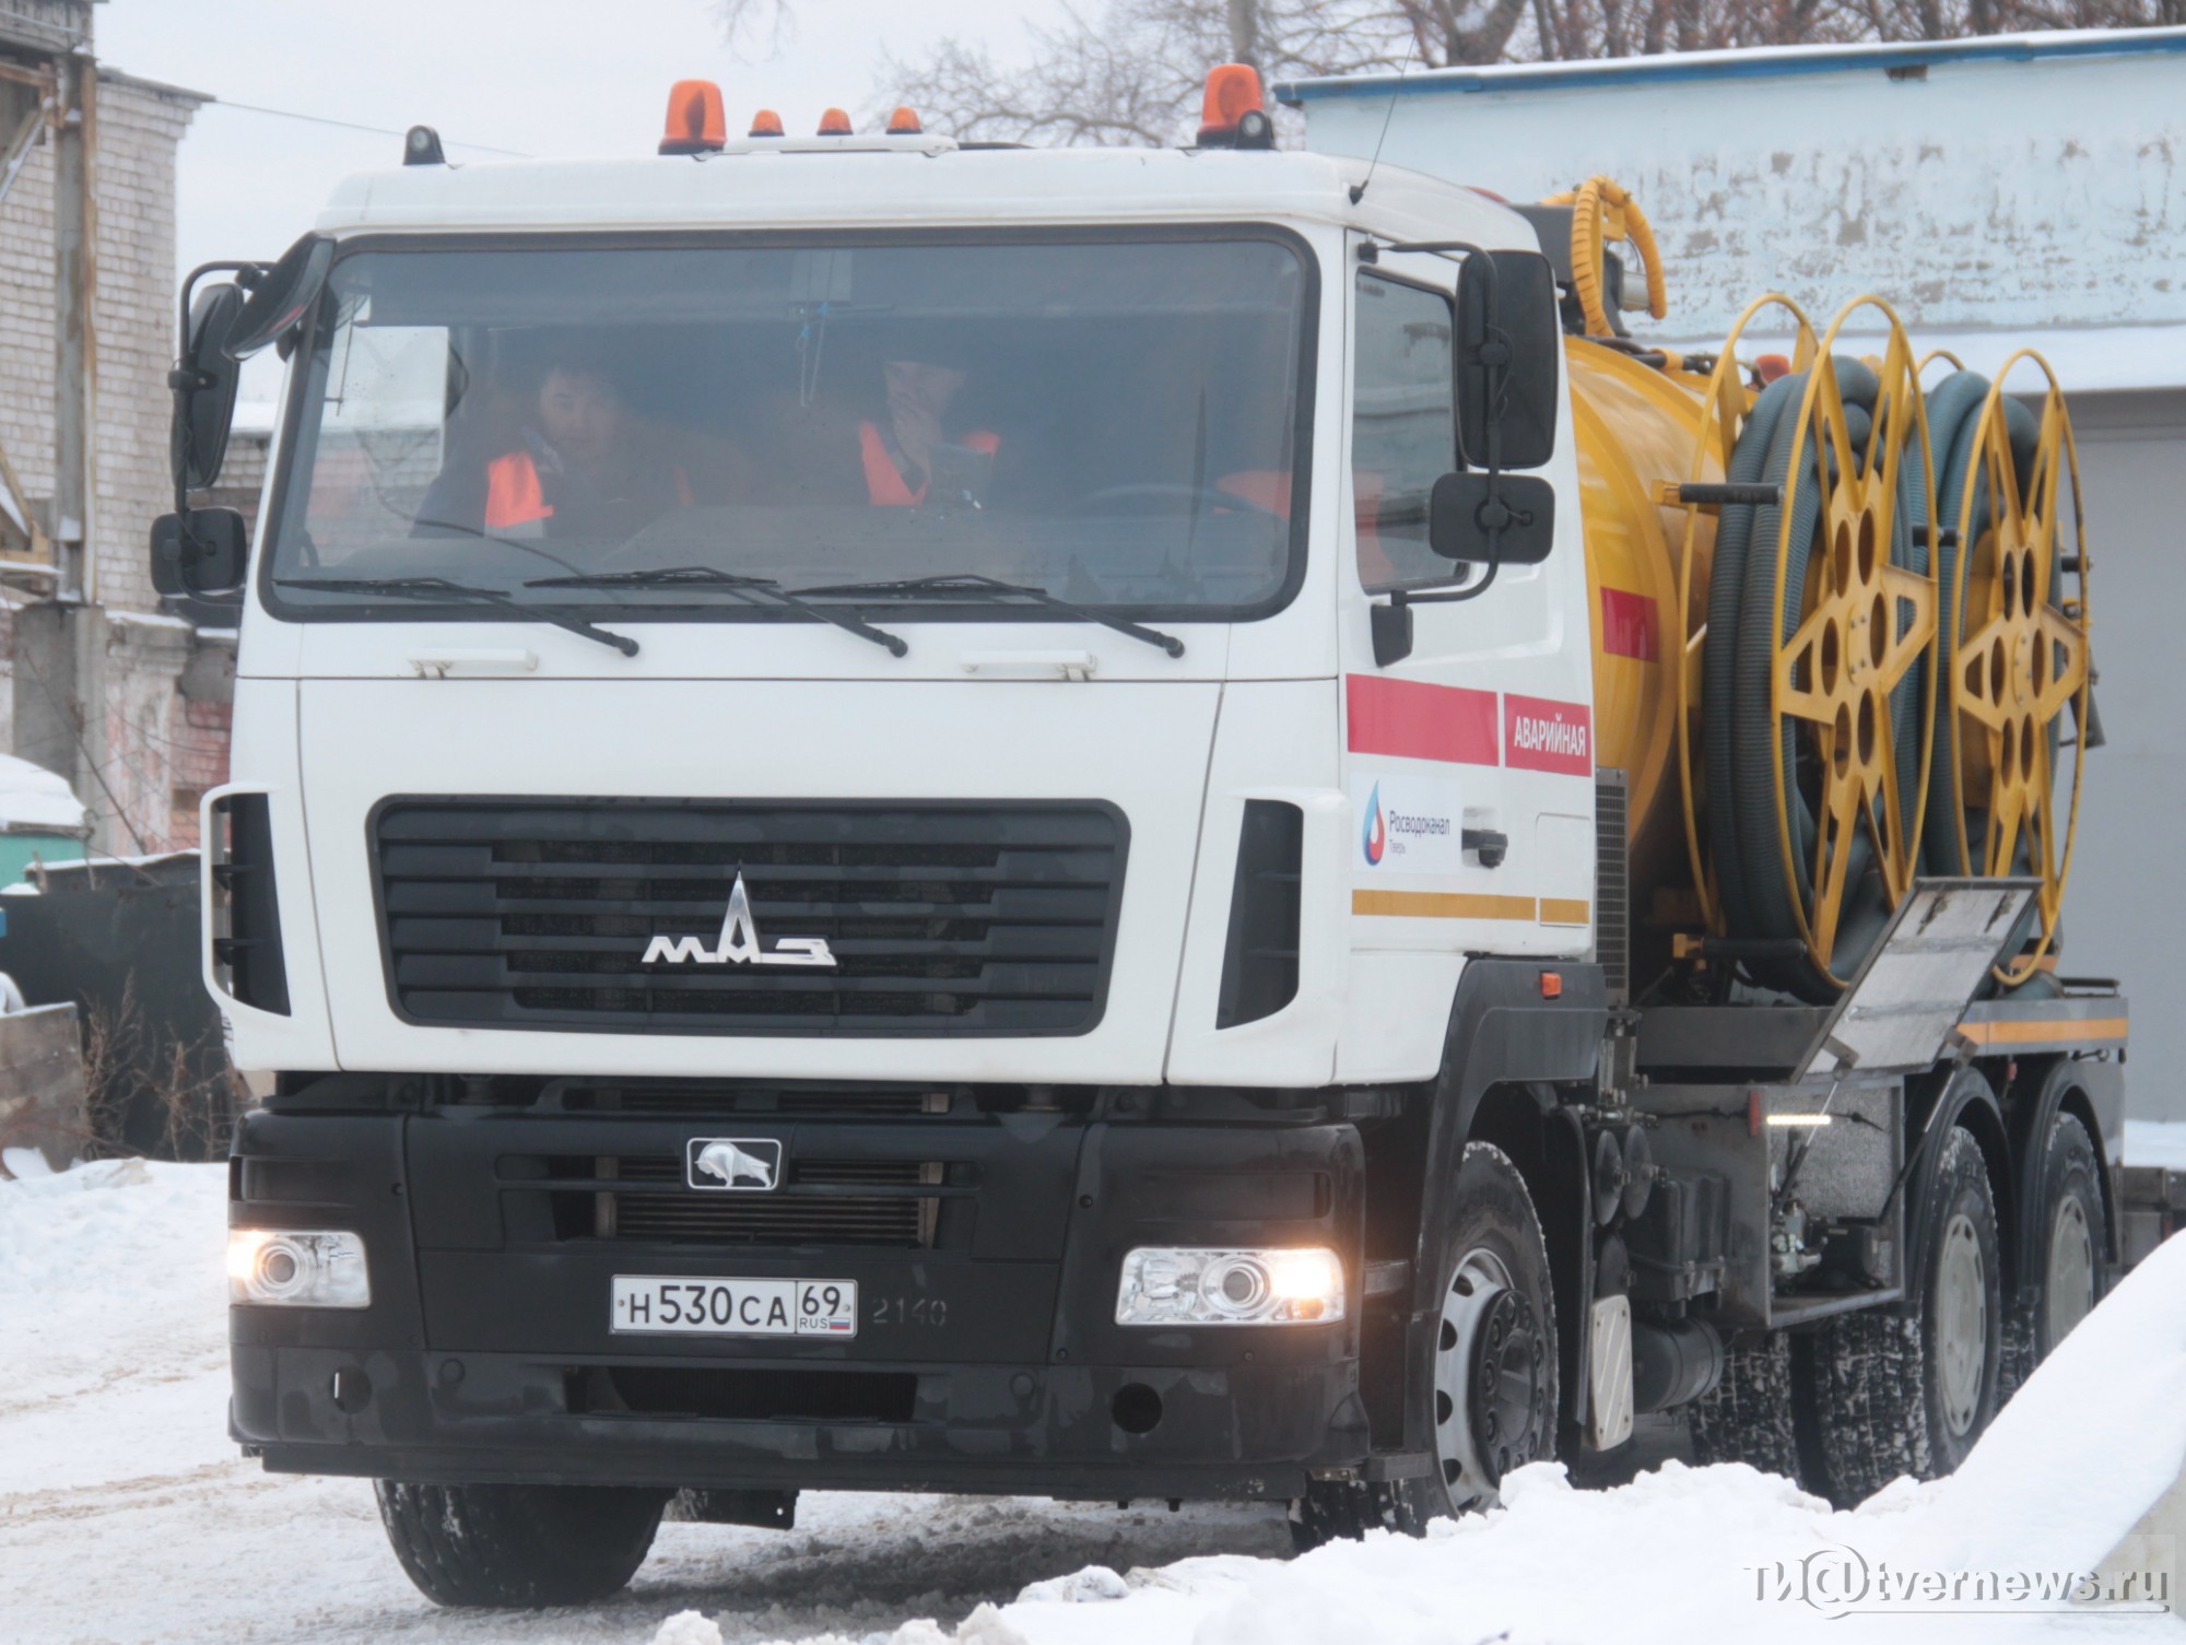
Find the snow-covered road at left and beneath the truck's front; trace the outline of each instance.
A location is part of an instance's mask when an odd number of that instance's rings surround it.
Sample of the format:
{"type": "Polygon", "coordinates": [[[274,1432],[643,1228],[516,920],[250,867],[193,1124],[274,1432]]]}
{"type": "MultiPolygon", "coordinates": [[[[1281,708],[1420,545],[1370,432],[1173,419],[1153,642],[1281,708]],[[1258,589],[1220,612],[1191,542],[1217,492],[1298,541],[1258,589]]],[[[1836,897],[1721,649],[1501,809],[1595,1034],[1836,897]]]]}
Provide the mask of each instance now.
{"type": "Polygon", "coordinates": [[[1279,1509],[809,1496],[798,1529],[665,1525],[632,1590],[450,1617],[396,1568],[372,1488],[278,1479],[227,1442],[219,1166],[92,1166],[0,1188],[0,1641],[649,1641],[957,1623],[1034,1577],[1194,1553],[1288,1555],[1279,1509]],[[28,1203],[22,1203],[28,1201],[28,1203]],[[90,1267],[79,1267],[90,1264],[90,1267]]]}

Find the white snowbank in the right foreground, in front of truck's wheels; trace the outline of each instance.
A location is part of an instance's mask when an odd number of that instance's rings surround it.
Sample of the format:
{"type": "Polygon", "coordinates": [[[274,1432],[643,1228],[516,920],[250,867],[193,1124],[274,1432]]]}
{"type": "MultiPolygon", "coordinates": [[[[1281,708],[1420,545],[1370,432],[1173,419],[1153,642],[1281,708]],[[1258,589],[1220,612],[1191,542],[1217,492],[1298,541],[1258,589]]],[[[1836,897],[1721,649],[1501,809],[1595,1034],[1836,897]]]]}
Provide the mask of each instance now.
{"type": "MultiPolygon", "coordinates": [[[[1849,1514],[1744,1466],[1672,1461],[1620,1490],[1580,1492],[1559,1463],[1535,1463],[1511,1477],[1502,1509],[1438,1522],[1421,1542],[1377,1533],[1288,1564],[1189,1560],[1128,1573],[1124,1597],[1091,1614],[1051,1603],[1110,1595],[1113,1573],[1093,1568],[1034,1584],[995,1621],[1025,1645],[1841,1638],[1843,1608],[1814,1573],[1838,1573],[1841,1592],[1847,1571],[1946,1584],[2094,1571],[2182,1466],[2186,1240],[2173,1240],[2033,1376],[1954,1479],[1897,1481],[1849,1514]]],[[[1860,1597],[1887,1595],[1869,1586],[1860,1597]]],[[[1972,1623],[1983,1641],[2090,1625],[2105,1641],[2179,1638],[2177,1621],[2158,1614],[2022,1608],[1972,1623]]],[[[892,1645],[927,1638],[901,1630],[892,1645]]]]}

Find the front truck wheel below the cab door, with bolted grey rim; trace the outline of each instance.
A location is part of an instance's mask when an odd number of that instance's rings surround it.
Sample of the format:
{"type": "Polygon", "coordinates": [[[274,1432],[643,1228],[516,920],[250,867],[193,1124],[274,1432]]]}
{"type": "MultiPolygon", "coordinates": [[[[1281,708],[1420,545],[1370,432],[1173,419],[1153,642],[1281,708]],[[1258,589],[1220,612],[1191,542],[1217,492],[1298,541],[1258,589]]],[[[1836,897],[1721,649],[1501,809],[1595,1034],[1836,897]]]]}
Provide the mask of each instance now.
{"type": "Polygon", "coordinates": [[[1301,1549],[1373,1527],[1493,1507],[1504,1474],[1556,1448],[1556,1304],[1526,1179],[1502,1148],[1469,1142],[1443,1236],[1441,1321],[1425,1389],[1434,1472],[1386,1485],[1314,1481],[1292,1505],[1301,1549]]]}

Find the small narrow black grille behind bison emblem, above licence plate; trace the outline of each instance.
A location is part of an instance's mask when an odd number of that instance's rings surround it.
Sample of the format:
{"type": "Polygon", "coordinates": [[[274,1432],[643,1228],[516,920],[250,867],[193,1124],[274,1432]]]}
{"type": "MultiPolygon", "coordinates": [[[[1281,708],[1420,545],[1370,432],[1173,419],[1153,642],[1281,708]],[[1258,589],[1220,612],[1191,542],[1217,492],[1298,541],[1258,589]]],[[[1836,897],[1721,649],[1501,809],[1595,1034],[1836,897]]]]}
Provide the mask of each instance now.
{"type": "Polygon", "coordinates": [[[586,1190],[555,1192],[555,1229],[564,1238],[665,1245],[922,1249],[933,1245],[940,1199],[905,1190],[940,1188],[947,1177],[942,1162],[798,1159],[778,1192],[719,1194],[684,1188],[680,1159],[599,1157],[553,1162],[551,1168],[592,1175],[586,1190]],[[859,1194],[859,1188],[894,1192],[859,1194]]]}

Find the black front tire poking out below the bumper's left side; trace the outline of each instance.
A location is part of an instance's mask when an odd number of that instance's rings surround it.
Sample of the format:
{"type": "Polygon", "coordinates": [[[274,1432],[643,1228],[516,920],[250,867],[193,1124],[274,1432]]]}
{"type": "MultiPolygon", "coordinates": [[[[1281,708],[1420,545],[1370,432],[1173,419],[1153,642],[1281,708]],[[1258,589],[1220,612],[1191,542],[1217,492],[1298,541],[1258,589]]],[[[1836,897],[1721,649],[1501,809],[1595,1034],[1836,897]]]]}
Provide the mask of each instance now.
{"type": "Polygon", "coordinates": [[[376,1481],[396,1560],[435,1606],[584,1606],[645,1564],[667,1492],[376,1481]]]}

